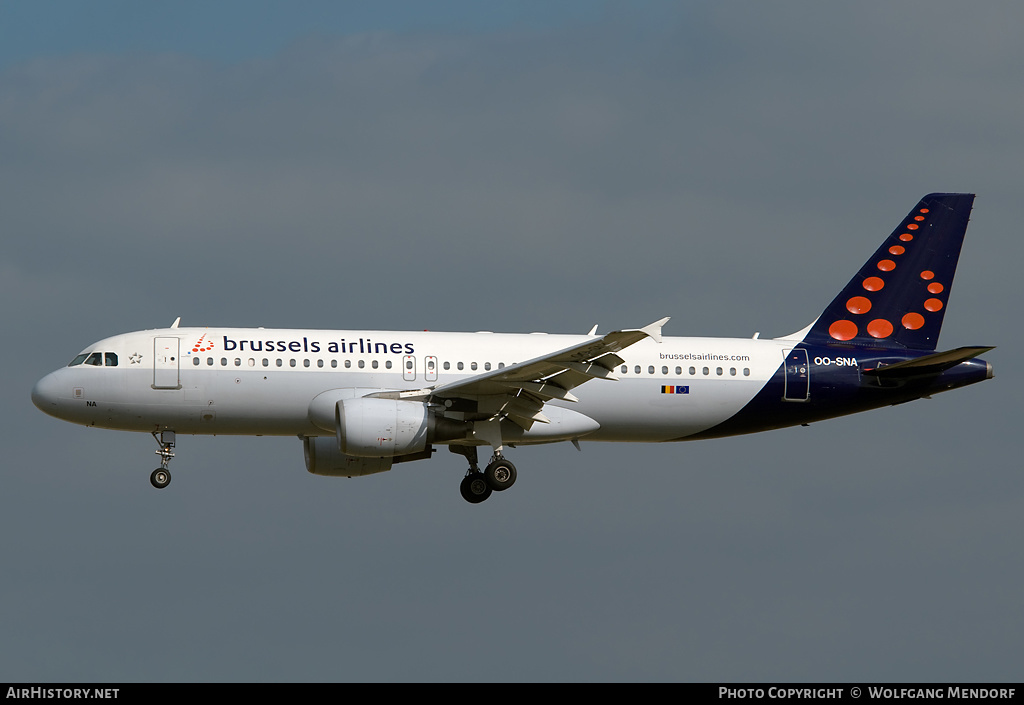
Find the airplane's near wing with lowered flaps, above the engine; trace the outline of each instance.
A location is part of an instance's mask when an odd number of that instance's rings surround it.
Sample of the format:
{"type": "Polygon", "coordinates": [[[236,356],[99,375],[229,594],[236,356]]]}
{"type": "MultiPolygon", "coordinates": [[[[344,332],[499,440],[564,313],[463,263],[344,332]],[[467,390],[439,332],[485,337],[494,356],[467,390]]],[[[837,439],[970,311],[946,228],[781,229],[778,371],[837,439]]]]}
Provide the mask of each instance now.
{"type": "Polygon", "coordinates": [[[553,399],[575,402],[569,391],[573,387],[591,379],[616,379],[612,370],[624,362],[616,352],[648,337],[660,342],[662,326],[668,321],[664,318],[644,328],[613,331],[526,362],[398,397],[443,404],[476,419],[508,418],[529,430],[535,422],[548,423],[541,411],[545,403],[553,399]]]}

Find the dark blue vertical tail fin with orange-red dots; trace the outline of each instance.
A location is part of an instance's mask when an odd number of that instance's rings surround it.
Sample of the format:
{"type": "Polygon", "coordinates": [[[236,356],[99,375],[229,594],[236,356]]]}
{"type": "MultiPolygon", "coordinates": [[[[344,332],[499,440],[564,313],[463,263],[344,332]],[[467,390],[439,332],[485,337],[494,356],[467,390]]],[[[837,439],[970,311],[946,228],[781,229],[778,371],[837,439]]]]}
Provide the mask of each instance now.
{"type": "Polygon", "coordinates": [[[974,194],[929,194],[824,309],[805,342],[934,350],[974,194]]]}

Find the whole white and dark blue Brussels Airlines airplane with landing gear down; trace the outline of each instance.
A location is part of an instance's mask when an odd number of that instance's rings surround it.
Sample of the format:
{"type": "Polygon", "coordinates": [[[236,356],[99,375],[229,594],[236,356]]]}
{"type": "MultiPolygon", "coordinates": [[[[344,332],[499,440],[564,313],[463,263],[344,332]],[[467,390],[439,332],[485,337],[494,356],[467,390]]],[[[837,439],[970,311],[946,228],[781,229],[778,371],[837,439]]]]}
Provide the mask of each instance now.
{"type": "Polygon", "coordinates": [[[506,447],[717,439],[878,409],[992,378],[936,351],[973,194],[924,197],[806,328],[670,337],[668,318],[604,335],[170,328],[88,345],[32,401],[90,427],[145,431],[171,481],[176,436],[295,436],[306,469],[359,476],[464,456],[464,499],[515,483],[506,447]],[[490,449],[481,470],[478,449],[490,449]]]}

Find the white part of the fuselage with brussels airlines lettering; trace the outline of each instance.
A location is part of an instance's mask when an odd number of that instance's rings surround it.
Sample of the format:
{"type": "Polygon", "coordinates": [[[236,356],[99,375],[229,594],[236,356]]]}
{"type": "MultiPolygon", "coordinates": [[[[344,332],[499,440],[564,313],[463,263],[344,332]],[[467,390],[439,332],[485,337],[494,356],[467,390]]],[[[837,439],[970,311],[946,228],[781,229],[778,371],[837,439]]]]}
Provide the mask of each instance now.
{"type": "MultiPolygon", "coordinates": [[[[326,391],[413,390],[483,374],[597,336],[168,328],[118,335],[37,384],[53,416],[125,430],[330,436],[310,404],[326,391]],[[93,360],[95,362],[95,360],[93,360]]],[[[707,430],[746,405],[794,340],[646,339],[621,352],[617,380],[593,379],[554,400],[599,424],[588,441],[662,442],[707,430]],[[670,389],[671,387],[671,389],[670,389]]],[[[38,402],[37,402],[38,403],[38,402]]],[[[518,442],[545,442],[536,424],[518,442]]]]}

